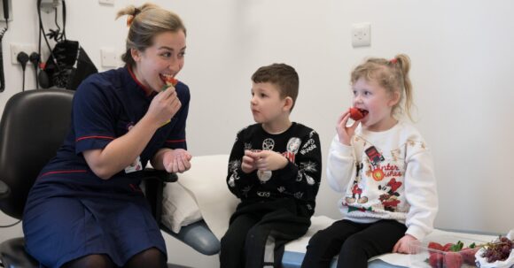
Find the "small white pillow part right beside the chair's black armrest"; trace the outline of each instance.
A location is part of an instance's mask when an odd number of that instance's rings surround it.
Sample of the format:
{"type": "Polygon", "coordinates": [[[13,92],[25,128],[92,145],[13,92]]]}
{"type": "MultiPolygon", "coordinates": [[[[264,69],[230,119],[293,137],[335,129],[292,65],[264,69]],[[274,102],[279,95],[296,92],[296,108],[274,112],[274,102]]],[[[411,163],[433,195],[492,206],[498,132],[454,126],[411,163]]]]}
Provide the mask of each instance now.
{"type": "Polygon", "coordinates": [[[162,224],[178,233],[182,226],[201,218],[199,206],[191,193],[178,182],[167,183],[162,193],[162,224]]]}

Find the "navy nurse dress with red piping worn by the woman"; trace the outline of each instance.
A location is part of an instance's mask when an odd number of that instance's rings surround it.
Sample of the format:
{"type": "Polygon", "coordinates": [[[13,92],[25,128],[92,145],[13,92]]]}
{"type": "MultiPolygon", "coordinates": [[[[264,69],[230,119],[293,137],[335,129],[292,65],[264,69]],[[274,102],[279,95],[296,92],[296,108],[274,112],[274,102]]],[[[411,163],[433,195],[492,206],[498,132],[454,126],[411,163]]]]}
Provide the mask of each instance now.
{"type": "MultiPolygon", "coordinates": [[[[181,109],[161,126],[140,155],[141,167],[161,148],[186,149],[190,92],[176,85],[181,109]]],[[[102,180],[82,152],[102,149],[141,119],[155,93],[147,96],[128,68],[91,75],[74,94],[72,126],[57,156],[30,190],[23,217],[27,252],[46,267],[90,254],[108,255],[122,266],[155,247],[167,256],[160,228],[139,188],[141,167],[102,180]]]]}

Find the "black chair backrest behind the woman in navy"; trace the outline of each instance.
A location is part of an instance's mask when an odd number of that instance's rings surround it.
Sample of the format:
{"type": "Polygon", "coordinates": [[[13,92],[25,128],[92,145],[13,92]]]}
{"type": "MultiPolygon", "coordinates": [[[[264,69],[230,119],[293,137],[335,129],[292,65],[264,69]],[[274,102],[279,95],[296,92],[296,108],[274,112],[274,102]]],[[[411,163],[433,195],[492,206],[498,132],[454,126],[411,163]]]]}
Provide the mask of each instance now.
{"type": "Polygon", "coordinates": [[[12,96],[0,121],[0,180],[11,193],[0,210],[21,218],[36,176],[56,155],[70,129],[74,91],[29,90],[12,96]]]}

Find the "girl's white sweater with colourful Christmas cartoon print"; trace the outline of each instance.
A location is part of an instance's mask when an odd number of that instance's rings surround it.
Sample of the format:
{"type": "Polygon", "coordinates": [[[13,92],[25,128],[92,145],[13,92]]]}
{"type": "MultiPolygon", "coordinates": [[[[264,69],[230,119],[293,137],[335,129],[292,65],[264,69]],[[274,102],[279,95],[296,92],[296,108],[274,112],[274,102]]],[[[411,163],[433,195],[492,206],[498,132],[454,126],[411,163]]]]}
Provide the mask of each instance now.
{"type": "Polygon", "coordinates": [[[331,142],[327,179],[344,193],[339,210],[359,223],[395,219],[418,240],[432,232],[438,209],[432,156],[414,126],[399,122],[383,132],[355,129],[351,145],[331,142]]]}

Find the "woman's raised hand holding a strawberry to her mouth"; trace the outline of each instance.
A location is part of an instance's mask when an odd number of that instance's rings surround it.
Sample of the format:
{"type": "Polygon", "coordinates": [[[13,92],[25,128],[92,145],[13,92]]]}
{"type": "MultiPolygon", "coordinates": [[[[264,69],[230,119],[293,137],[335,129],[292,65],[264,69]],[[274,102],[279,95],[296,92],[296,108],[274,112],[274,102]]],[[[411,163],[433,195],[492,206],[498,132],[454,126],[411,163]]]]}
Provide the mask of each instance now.
{"type": "Polygon", "coordinates": [[[175,88],[170,87],[167,90],[160,91],[152,99],[146,116],[148,116],[152,122],[156,125],[162,126],[162,124],[169,121],[169,119],[175,116],[175,113],[180,109],[182,103],[176,95],[175,88]]]}

